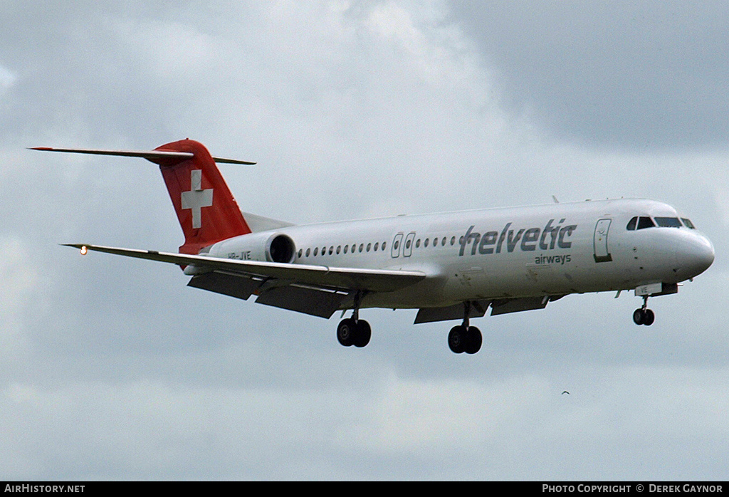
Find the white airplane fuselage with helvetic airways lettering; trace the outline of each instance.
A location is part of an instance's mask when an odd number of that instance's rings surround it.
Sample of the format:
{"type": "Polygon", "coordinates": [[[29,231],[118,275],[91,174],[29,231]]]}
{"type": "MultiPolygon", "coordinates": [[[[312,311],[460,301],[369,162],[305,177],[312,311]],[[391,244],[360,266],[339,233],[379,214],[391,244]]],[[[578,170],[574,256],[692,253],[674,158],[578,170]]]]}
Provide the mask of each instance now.
{"type": "Polygon", "coordinates": [[[714,251],[680,219],[652,200],[555,203],[297,225],[224,240],[209,255],[265,261],[265,241],[286,235],[293,264],[429,275],[405,289],[369,294],[362,308],[443,307],[685,281],[711,264],[714,251]],[[678,224],[628,230],[636,216],[678,224]]]}

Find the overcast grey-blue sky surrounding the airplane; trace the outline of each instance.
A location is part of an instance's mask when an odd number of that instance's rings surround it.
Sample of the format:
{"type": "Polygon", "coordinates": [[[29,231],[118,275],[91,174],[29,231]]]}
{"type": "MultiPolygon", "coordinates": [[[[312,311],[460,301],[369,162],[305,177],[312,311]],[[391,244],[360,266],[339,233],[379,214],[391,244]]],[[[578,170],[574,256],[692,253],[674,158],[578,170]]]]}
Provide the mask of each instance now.
{"type": "Polygon", "coordinates": [[[0,4],[0,478],[723,479],[729,6],[683,1],[0,4]],[[149,149],[223,165],[295,223],[650,197],[714,265],[635,326],[632,294],[451,323],[330,321],[185,287],[149,149]],[[561,395],[567,390],[570,395],[561,395]]]}

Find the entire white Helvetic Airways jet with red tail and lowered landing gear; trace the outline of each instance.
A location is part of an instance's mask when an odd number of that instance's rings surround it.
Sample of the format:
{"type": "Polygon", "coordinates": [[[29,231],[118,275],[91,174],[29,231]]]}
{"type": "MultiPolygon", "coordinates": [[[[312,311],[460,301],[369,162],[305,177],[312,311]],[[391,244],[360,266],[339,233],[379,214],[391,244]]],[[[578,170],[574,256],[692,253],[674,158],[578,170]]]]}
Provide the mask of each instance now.
{"type": "Polygon", "coordinates": [[[476,353],[471,318],[543,309],[567,294],[634,290],[636,324],[655,319],[649,297],[674,294],[714,262],[711,241],[652,200],[600,200],[293,225],[241,212],[202,144],[152,151],[36,149],[144,157],[160,165],[184,244],[179,253],[69,246],[179,265],[188,286],[330,318],[342,345],[364,347],[363,308],[418,309],[415,323],[461,320],[455,353],[476,353]]]}

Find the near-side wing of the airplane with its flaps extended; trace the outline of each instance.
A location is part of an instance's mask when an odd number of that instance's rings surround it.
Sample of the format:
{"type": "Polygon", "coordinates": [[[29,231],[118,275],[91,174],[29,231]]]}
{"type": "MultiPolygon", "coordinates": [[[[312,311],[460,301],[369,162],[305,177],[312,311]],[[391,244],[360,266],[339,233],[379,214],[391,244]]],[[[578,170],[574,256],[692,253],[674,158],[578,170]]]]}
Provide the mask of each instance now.
{"type": "Polygon", "coordinates": [[[258,303],[325,318],[342,308],[347,300],[352,300],[357,291],[399,290],[426,277],[420,271],[241,261],[83,243],[69,243],[66,246],[79,248],[82,253],[92,250],[193,266],[195,275],[188,286],[243,300],[255,293],[258,303]]]}

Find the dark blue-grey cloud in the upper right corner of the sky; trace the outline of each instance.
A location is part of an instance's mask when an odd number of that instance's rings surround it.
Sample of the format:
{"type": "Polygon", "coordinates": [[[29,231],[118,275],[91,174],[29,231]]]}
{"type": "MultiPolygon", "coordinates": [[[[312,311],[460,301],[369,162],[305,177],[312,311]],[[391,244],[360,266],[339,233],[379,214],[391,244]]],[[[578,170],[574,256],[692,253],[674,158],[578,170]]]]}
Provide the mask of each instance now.
{"type": "Polygon", "coordinates": [[[716,2],[453,1],[516,109],[561,138],[630,149],[726,144],[729,16],[716,2]]]}

